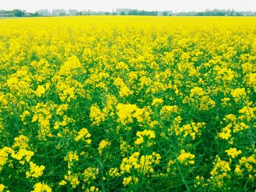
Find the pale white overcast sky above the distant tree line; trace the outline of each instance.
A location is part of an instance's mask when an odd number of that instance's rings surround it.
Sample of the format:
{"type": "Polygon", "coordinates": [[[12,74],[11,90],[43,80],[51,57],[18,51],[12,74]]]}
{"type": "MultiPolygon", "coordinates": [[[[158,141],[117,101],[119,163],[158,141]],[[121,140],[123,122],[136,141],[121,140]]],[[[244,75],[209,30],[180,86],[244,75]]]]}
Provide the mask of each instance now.
{"type": "Polygon", "coordinates": [[[148,11],[205,11],[206,9],[235,9],[256,11],[256,0],[0,0],[0,10],[77,9],[78,11],[109,11],[117,8],[148,11]]]}

